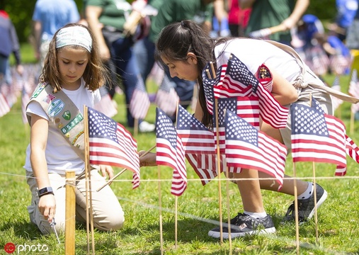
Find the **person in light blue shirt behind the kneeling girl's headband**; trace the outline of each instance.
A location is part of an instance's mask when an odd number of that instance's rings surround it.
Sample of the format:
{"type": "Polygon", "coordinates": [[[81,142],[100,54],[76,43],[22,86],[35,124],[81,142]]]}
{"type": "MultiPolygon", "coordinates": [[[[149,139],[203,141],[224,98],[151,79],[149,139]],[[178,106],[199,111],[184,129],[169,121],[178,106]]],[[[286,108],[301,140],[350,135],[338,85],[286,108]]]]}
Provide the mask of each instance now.
{"type": "Polygon", "coordinates": [[[38,0],[33,12],[35,57],[43,67],[50,41],[55,32],[68,23],[80,21],[74,0],[38,0]]]}

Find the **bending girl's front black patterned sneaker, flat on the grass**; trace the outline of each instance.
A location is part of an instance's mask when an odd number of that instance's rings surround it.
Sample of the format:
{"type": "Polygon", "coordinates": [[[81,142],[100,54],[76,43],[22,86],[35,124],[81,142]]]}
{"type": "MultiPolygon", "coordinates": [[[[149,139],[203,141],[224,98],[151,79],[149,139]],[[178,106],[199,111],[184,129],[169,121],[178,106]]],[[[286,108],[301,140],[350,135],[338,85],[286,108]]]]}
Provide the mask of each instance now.
{"type": "MultiPolygon", "coordinates": [[[[272,217],[267,215],[262,219],[256,219],[244,213],[239,213],[231,220],[231,238],[244,237],[246,234],[269,234],[275,232],[272,217]]],[[[223,222],[222,237],[229,238],[228,224],[223,222]]],[[[208,232],[210,237],[220,238],[220,227],[208,232]]]]}

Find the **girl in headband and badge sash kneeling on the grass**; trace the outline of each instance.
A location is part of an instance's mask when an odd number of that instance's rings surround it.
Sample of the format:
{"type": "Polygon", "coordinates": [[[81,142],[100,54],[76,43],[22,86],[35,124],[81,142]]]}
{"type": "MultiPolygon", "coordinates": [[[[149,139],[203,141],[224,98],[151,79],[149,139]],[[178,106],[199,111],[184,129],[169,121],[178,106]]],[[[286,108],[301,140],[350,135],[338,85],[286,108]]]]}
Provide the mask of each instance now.
{"type": "MultiPolygon", "coordinates": [[[[40,84],[26,107],[31,127],[24,166],[32,194],[28,213],[30,221],[42,234],[54,232],[52,225],[55,223],[56,232],[64,232],[68,220],[65,217],[65,174],[69,170],[76,174],[76,220],[86,222],[82,116],[84,105],[93,108],[101,100],[99,88],[107,77],[107,69],[103,67],[89,28],[70,23],[52,36],[40,84]],[[65,125],[67,122],[69,124],[65,125]],[[72,128],[64,134],[66,126],[72,128]]],[[[89,174],[93,227],[103,231],[120,229],[125,217],[115,193],[110,186],[96,191],[106,183],[107,174],[113,177],[112,167],[91,166],[89,174]]]]}

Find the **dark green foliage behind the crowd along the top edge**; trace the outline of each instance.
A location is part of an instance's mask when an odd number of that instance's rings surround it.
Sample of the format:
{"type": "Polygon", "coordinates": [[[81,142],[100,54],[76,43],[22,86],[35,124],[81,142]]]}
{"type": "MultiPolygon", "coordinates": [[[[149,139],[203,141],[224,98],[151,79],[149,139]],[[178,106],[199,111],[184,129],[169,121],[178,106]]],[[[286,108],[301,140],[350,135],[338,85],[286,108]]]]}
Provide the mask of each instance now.
{"type": "MultiPolygon", "coordinates": [[[[75,2],[81,10],[83,0],[75,0],[75,2]]],[[[9,13],[21,42],[28,42],[31,34],[31,18],[35,3],[36,0],[0,0],[0,8],[4,8],[9,13]]],[[[307,13],[312,13],[321,20],[333,20],[336,15],[335,4],[336,0],[310,1],[307,13]]]]}

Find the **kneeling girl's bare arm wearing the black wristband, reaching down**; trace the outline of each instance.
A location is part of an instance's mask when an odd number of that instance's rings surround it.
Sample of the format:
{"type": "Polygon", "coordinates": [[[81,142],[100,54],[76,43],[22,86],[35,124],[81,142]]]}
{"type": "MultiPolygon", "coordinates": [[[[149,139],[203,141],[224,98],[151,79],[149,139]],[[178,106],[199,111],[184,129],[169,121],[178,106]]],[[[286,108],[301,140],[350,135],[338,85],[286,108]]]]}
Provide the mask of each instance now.
{"type": "MultiPolygon", "coordinates": [[[[44,118],[38,115],[31,117],[30,162],[39,190],[41,188],[50,187],[51,185],[45,158],[48,127],[49,123],[44,118]]],[[[41,214],[44,215],[45,218],[47,217],[47,220],[51,222],[56,212],[55,196],[52,194],[42,196],[39,200],[38,208],[41,214]]]]}

